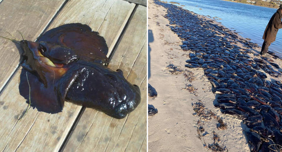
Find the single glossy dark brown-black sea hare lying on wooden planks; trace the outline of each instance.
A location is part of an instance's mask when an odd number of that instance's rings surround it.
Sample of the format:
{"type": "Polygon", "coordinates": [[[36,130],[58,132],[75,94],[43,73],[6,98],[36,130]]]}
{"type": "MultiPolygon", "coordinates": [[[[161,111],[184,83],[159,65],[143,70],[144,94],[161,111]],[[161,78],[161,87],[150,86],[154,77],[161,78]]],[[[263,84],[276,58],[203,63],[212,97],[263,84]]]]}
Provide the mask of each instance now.
{"type": "Polygon", "coordinates": [[[38,111],[58,113],[68,101],[124,118],[140,103],[139,87],[130,84],[121,70],[104,65],[109,62],[105,39],[87,25],[65,24],[37,42],[20,44],[20,93],[31,98],[38,111]]]}

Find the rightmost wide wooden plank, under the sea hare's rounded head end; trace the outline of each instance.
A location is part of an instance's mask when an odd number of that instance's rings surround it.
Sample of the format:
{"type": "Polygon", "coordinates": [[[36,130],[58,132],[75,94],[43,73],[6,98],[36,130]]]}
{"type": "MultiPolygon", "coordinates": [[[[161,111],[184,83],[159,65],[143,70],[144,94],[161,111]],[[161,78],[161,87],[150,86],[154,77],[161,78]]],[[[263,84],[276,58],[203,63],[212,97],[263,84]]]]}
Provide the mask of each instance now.
{"type": "Polygon", "coordinates": [[[103,113],[93,117],[95,110],[85,108],[63,151],[146,151],[142,148],[147,147],[146,11],[144,6],[137,7],[109,64],[111,69],[121,69],[129,82],[140,86],[140,105],[123,119],[103,113]]]}

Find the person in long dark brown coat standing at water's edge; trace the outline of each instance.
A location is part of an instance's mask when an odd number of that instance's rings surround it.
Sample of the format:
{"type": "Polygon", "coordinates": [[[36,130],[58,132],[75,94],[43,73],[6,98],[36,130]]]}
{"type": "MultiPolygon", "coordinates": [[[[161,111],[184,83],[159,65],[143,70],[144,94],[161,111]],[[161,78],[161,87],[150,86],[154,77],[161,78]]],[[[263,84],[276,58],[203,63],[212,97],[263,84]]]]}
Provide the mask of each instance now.
{"type": "Polygon", "coordinates": [[[275,41],[278,29],[282,28],[281,18],[282,4],[279,6],[279,9],[276,11],[276,13],[272,15],[263,33],[262,39],[264,39],[264,41],[260,53],[262,56],[267,56],[266,53],[268,51],[268,46],[275,41]]]}

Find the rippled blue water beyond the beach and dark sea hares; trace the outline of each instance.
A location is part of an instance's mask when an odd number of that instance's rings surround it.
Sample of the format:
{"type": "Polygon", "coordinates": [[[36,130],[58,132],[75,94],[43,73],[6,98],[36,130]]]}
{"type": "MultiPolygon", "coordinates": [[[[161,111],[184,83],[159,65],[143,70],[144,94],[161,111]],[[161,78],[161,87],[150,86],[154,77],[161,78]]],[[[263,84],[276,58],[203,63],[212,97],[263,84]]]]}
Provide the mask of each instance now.
{"type": "MultiPolygon", "coordinates": [[[[222,0],[167,0],[177,2],[183,9],[193,11],[200,15],[219,17],[222,25],[231,30],[236,30],[244,38],[251,39],[251,42],[260,46],[263,43],[263,32],[271,16],[277,9],[242,4],[222,0]]],[[[178,4],[175,4],[179,6],[178,4]]],[[[276,41],[269,46],[270,51],[274,51],[282,56],[282,29],[278,30],[276,41]]]]}

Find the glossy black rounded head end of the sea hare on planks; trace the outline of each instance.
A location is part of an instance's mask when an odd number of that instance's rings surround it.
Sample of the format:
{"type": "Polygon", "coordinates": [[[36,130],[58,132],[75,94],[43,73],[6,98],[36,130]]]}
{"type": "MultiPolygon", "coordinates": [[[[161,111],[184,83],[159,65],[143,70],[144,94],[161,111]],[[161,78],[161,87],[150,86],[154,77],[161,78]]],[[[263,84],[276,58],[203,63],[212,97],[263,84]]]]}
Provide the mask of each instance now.
{"type": "Polygon", "coordinates": [[[76,70],[80,72],[68,89],[66,101],[103,111],[115,118],[124,118],[140,103],[139,87],[129,83],[121,70],[112,71],[99,64],[81,64],[84,69],[76,70]]]}

